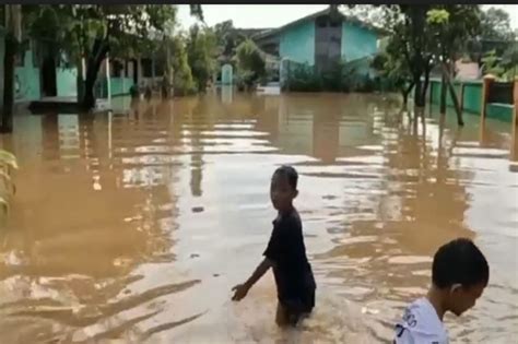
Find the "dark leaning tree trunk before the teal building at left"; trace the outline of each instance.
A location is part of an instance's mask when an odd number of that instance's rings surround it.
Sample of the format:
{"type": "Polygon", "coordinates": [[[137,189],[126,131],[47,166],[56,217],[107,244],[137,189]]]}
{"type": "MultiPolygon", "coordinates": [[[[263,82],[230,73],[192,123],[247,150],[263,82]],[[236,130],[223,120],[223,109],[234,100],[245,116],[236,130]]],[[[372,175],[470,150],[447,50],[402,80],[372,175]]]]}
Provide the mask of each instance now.
{"type": "Polygon", "coordinates": [[[107,39],[108,38],[96,39],[94,43],[94,48],[92,49],[92,56],[90,56],[87,59],[86,80],[84,81],[83,100],[81,104],[86,110],[95,107],[94,86],[101,64],[109,51],[107,39]]]}

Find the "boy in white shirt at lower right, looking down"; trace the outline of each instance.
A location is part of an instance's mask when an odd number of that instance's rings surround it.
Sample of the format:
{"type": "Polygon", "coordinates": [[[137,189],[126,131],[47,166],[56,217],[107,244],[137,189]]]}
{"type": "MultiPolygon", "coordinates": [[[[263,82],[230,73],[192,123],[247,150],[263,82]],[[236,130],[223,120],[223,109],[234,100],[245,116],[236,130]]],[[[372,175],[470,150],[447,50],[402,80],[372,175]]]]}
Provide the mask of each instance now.
{"type": "Polygon", "coordinates": [[[395,344],[447,344],[444,315],[459,317],[475,305],[487,286],[490,266],[470,240],[455,239],[442,246],[432,264],[432,287],[426,297],[411,304],[396,325],[395,344]]]}

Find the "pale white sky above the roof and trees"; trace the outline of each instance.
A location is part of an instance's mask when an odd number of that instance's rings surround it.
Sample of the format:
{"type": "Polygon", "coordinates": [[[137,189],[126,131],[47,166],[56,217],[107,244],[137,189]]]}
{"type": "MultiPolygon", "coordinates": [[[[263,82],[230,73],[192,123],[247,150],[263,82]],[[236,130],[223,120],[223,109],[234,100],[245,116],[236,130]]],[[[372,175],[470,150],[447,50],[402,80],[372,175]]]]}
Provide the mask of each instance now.
{"type": "MultiPolygon", "coordinates": [[[[329,4],[202,4],[203,16],[209,26],[232,20],[235,27],[278,27],[305,15],[321,11],[329,4]]],[[[518,4],[482,5],[502,8],[509,13],[510,25],[518,28],[518,4]]],[[[184,28],[196,20],[190,16],[189,5],[178,5],[178,17],[184,28]]]]}

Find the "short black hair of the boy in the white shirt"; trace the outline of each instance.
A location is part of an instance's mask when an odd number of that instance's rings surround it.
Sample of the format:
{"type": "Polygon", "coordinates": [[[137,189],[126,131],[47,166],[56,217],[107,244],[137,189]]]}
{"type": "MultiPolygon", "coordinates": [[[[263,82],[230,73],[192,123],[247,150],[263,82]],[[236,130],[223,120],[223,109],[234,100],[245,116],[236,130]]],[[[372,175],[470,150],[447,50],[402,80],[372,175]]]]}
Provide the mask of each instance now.
{"type": "Polygon", "coordinates": [[[443,245],[434,256],[432,282],[438,288],[454,284],[471,287],[487,285],[490,265],[482,251],[467,238],[458,238],[443,245]]]}

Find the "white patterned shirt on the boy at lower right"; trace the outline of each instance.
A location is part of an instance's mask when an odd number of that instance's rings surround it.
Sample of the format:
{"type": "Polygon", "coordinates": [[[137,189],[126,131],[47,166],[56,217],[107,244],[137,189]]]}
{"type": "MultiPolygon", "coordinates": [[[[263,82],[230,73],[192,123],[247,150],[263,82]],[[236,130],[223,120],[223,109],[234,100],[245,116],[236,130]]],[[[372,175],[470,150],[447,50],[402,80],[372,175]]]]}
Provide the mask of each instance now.
{"type": "Polygon", "coordinates": [[[396,325],[395,344],[448,344],[448,331],[426,297],[410,304],[396,325]]]}

